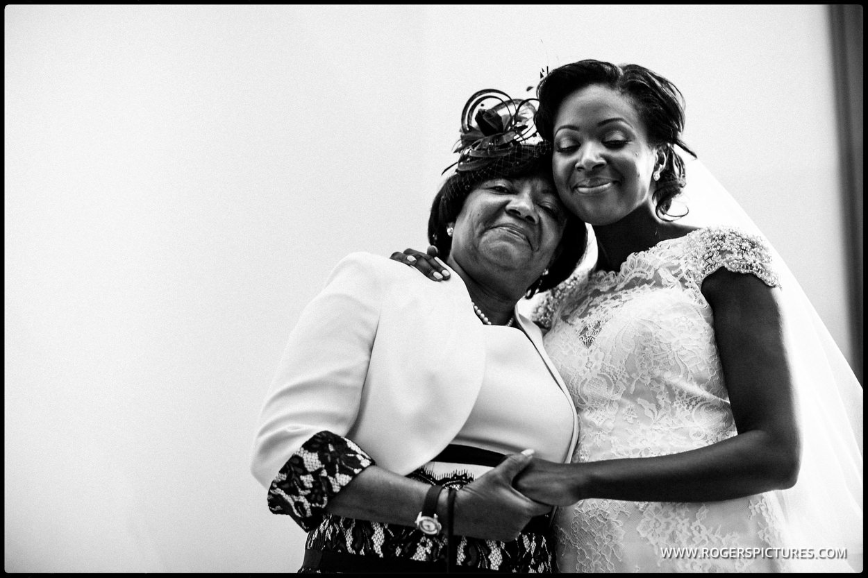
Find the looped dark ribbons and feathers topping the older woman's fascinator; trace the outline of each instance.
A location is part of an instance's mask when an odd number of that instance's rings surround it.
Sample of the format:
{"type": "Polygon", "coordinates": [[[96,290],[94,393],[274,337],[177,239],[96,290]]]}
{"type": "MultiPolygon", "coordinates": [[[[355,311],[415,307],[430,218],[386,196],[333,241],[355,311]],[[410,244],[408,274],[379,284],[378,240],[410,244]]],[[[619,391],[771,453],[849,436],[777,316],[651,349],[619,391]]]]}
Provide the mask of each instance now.
{"type": "Polygon", "coordinates": [[[456,167],[458,173],[478,171],[516,148],[542,143],[536,132],[536,99],[511,98],[497,89],[483,89],[470,96],[461,113],[461,132],[453,153],[458,161],[444,169],[456,167]]]}

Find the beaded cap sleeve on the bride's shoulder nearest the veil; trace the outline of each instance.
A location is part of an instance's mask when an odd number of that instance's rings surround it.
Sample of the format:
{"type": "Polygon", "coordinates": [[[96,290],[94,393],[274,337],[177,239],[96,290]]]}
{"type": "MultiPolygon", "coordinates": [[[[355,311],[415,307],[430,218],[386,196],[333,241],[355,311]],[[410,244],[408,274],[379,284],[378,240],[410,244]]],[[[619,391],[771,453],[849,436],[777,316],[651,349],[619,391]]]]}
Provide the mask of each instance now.
{"type": "Polygon", "coordinates": [[[720,267],[733,273],[751,273],[770,287],[779,287],[772,266],[772,254],[758,235],[734,227],[707,227],[699,234],[699,278],[701,284],[720,267]]]}

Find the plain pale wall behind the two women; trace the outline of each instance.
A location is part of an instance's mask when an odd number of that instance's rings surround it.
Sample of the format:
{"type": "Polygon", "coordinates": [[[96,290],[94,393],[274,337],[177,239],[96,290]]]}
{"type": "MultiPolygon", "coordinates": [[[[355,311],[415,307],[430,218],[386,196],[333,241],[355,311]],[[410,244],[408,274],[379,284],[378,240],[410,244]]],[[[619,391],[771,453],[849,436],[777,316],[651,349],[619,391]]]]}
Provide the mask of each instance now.
{"type": "Polygon", "coordinates": [[[849,353],[826,8],[7,6],[4,567],[294,571],[248,470],[299,311],[423,248],[461,108],[638,62],[849,353]]]}

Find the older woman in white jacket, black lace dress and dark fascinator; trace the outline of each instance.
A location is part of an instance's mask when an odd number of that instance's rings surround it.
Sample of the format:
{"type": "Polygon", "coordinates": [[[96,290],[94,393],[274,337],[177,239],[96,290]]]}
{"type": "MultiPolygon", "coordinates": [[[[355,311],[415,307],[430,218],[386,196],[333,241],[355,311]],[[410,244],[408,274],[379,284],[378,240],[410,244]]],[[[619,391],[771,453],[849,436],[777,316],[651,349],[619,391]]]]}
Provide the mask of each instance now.
{"type": "Polygon", "coordinates": [[[468,102],[431,208],[453,282],[352,253],[290,335],[253,474],[309,532],[300,571],[551,569],[549,507],[511,482],[525,448],[569,461],[577,422],[516,303],[566,279],[585,227],[558,198],[549,145],[529,139],[535,108],[503,96],[468,102]]]}

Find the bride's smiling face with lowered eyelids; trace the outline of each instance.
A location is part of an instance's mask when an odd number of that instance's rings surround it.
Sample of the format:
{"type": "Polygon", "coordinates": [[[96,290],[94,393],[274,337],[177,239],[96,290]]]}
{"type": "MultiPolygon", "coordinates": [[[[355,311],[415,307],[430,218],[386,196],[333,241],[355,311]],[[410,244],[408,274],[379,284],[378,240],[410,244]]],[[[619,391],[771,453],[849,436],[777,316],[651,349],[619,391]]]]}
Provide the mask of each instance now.
{"type": "Polygon", "coordinates": [[[576,90],[557,110],[554,145],[558,194],[585,222],[608,225],[651,202],[656,150],[627,97],[600,85],[576,90]]]}

